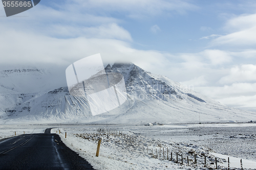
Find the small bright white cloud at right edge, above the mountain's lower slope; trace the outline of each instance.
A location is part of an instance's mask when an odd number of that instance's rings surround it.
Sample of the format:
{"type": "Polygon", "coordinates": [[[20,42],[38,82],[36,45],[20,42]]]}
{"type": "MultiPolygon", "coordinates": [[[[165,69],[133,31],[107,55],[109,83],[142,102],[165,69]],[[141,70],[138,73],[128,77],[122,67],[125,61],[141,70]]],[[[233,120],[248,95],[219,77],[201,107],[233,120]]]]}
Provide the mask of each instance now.
{"type": "Polygon", "coordinates": [[[256,81],[256,65],[253,64],[234,66],[230,69],[229,75],[224,76],[219,80],[221,84],[252,81],[256,81]]]}

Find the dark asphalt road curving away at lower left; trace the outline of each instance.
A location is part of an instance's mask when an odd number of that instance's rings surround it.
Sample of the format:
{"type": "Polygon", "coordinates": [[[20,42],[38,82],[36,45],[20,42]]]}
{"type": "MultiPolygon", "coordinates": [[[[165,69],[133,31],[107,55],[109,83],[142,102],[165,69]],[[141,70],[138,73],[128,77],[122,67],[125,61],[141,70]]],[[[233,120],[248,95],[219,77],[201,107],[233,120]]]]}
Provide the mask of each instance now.
{"type": "Polygon", "coordinates": [[[0,169],[93,169],[50,131],[1,140],[0,169]]]}

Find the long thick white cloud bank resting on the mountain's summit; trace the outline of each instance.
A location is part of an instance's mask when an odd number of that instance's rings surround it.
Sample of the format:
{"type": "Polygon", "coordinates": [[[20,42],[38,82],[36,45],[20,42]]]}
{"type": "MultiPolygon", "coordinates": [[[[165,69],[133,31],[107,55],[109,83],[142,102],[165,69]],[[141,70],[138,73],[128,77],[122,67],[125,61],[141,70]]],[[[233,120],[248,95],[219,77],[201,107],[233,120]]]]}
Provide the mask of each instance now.
{"type": "Polygon", "coordinates": [[[106,63],[133,62],[145,69],[167,67],[169,63],[166,61],[168,54],[137,50],[130,43],[117,39],[61,39],[15,30],[0,31],[0,37],[1,64],[5,65],[35,64],[44,67],[55,64],[66,67],[74,61],[97,53],[101,54],[106,63]]]}

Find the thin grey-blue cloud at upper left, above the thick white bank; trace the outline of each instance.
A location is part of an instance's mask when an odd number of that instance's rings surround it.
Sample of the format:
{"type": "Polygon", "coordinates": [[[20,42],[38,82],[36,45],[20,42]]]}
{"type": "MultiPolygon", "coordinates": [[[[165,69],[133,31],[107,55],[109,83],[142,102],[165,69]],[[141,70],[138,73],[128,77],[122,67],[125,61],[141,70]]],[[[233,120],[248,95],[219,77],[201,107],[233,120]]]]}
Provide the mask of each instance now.
{"type": "Polygon", "coordinates": [[[40,4],[36,6],[36,10],[28,10],[24,12],[24,15],[29,17],[1,19],[0,29],[11,30],[18,28],[16,30],[20,32],[30,31],[34,34],[57,38],[76,38],[88,36],[94,32],[93,35],[97,38],[102,36],[102,38],[131,40],[131,35],[118,26],[121,20],[109,16],[79,13],[68,9],[57,10],[40,4]]]}

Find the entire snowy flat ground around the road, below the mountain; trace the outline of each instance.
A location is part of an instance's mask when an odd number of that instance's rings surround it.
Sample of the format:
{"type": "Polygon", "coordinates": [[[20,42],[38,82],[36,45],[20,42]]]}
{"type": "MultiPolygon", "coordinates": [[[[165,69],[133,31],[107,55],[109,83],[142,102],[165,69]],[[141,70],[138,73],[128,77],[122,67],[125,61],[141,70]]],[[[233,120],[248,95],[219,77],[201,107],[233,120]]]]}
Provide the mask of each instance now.
{"type": "MultiPolygon", "coordinates": [[[[62,142],[86,158],[96,169],[179,169],[176,153],[183,156],[183,169],[202,168],[204,156],[208,167],[227,166],[230,157],[232,169],[243,166],[256,169],[256,124],[206,124],[164,126],[86,126],[86,125],[0,125],[0,139],[25,133],[43,133],[46,128],[59,133],[62,142]],[[105,133],[97,129],[108,130],[105,133]],[[115,131],[118,135],[111,134],[115,131]],[[120,134],[119,134],[120,131],[120,134]],[[67,132],[67,138],[65,138],[67,132]],[[122,135],[121,135],[122,133],[122,135]],[[95,157],[98,138],[101,137],[99,157],[95,157]],[[130,141],[131,138],[131,141],[130,141]],[[173,153],[173,161],[170,153],[173,153]],[[161,155],[159,155],[161,149],[161,155]],[[164,158],[163,158],[164,149],[164,158]],[[157,152],[156,152],[157,150],[157,152]],[[153,152],[152,152],[153,151],[153,152]],[[198,167],[195,166],[197,158],[198,167]],[[228,156],[227,156],[228,155],[228,156]],[[187,166],[187,156],[189,166],[187,166]],[[235,158],[237,157],[237,158],[235,158]],[[250,161],[249,161],[250,160],[250,161]],[[192,166],[192,167],[191,167],[192,166]]],[[[224,168],[222,168],[224,169],[224,168]]]]}

